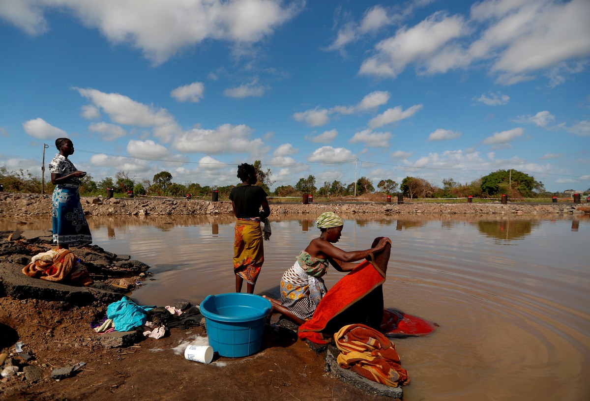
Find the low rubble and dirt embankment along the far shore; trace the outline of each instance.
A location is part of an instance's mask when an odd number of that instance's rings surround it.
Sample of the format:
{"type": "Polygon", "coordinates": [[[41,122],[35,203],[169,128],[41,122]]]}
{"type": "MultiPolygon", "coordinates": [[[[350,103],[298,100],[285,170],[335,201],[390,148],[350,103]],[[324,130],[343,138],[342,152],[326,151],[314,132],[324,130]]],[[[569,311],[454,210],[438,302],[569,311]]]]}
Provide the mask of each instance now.
{"type": "MultiPolygon", "coordinates": [[[[385,201],[385,197],[383,197],[385,201]]],[[[165,216],[165,215],[231,215],[230,201],[202,201],[199,199],[179,198],[82,198],[84,212],[87,215],[129,215],[129,216],[165,216]]],[[[590,211],[586,204],[572,203],[421,203],[411,202],[398,205],[396,202],[346,202],[340,198],[337,202],[313,203],[272,203],[273,215],[311,214],[324,211],[337,213],[378,213],[395,215],[409,214],[537,214],[537,213],[575,213],[590,211]]],[[[51,195],[27,193],[0,194],[0,218],[12,216],[50,216],[51,195]]]]}

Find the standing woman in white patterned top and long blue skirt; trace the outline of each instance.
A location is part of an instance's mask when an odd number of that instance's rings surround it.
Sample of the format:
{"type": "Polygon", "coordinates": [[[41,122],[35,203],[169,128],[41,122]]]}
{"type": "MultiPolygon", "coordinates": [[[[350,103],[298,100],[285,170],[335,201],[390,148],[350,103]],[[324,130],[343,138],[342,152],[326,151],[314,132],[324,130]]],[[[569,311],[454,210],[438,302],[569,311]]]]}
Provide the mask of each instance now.
{"type": "Polygon", "coordinates": [[[68,138],[55,140],[60,153],[55,155],[49,170],[51,183],[55,185],[51,196],[51,221],[53,223],[53,242],[57,248],[70,248],[70,245],[87,245],[92,242],[90,228],[80,203],[81,178],[86,172],[76,169],[68,156],[74,153],[74,144],[68,138]]]}

